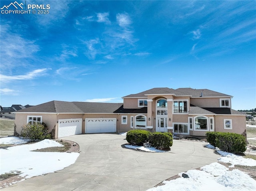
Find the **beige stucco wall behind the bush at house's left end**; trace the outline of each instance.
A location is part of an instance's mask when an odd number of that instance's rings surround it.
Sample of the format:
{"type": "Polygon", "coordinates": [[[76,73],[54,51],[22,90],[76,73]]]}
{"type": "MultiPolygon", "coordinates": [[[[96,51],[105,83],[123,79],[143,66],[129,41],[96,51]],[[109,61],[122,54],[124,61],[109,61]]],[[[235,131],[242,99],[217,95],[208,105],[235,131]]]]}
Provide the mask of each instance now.
{"type": "Polygon", "coordinates": [[[20,134],[21,128],[23,125],[27,124],[28,116],[42,116],[42,122],[47,125],[47,128],[52,131],[56,124],[56,114],[38,114],[38,113],[16,113],[15,124],[16,131],[20,134]]]}

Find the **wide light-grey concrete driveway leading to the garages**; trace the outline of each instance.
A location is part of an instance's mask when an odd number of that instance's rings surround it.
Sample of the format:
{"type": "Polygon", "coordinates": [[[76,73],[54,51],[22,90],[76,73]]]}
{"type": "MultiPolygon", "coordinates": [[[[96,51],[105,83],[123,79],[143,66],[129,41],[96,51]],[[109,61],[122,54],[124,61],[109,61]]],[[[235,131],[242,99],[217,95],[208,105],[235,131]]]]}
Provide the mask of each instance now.
{"type": "Polygon", "coordinates": [[[82,134],[63,139],[77,142],[80,156],[55,173],[32,177],[3,190],[12,191],[145,191],[180,172],[220,157],[202,142],[174,140],[167,153],[124,148],[125,136],[82,134]]]}

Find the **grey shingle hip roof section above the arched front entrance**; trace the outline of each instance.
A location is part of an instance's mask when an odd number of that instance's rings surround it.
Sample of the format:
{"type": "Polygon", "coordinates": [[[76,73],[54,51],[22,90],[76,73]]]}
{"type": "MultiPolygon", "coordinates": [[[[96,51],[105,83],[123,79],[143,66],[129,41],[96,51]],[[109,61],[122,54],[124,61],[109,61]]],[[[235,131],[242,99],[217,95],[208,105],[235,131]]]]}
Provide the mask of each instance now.
{"type": "Polygon", "coordinates": [[[130,94],[127,96],[124,96],[122,98],[131,98],[131,97],[147,97],[145,95],[150,95],[150,94],[175,94],[176,96],[188,96],[186,93],[182,93],[180,91],[176,91],[174,89],[170,88],[153,88],[150,90],[146,90],[137,94],[130,94]]]}

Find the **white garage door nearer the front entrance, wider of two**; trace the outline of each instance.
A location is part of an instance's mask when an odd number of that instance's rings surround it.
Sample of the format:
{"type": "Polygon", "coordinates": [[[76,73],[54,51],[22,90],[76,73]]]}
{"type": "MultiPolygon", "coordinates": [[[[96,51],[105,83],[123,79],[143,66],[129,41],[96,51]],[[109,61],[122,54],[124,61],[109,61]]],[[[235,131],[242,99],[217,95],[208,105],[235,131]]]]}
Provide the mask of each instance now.
{"type": "Polygon", "coordinates": [[[116,132],[116,118],[87,118],[85,124],[86,133],[110,133],[116,132]]]}

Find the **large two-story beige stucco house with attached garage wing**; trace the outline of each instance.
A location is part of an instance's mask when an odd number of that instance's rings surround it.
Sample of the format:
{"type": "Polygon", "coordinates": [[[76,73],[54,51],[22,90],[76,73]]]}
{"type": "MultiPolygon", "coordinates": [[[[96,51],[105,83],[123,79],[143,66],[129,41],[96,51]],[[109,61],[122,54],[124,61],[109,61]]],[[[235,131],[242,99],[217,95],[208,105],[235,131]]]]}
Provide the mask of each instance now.
{"type": "Polygon", "coordinates": [[[55,137],[145,129],[205,136],[208,131],[246,132],[246,115],[231,108],[232,96],[208,89],[153,88],[122,97],[124,103],[50,101],[16,111],[16,130],[44,122],[55,137]]]}

